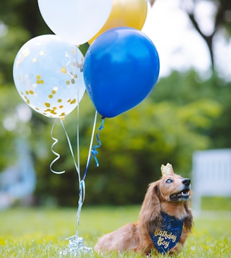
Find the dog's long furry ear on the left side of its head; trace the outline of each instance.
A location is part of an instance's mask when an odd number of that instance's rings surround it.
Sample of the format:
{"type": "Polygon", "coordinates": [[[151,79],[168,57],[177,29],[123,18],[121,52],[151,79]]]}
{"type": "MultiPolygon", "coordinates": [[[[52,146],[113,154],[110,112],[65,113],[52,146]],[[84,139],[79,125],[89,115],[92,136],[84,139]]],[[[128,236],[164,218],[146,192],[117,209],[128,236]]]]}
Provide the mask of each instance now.
{"type": "Polygon", "coordinates": [[[154,233],[155,228],[161,224],[161,204],[158,194],[160,180],[151,183],[139,212],[139,227],[142,233],[154,233]]]}

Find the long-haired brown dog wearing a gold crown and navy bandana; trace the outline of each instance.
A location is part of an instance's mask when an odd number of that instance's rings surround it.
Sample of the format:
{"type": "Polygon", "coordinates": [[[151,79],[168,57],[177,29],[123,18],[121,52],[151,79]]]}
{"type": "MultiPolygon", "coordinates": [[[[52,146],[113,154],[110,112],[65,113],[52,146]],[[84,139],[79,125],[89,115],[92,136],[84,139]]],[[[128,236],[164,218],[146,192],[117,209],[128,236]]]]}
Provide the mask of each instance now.
{"type": "Polygon", "coordinates": [[[177,254],[192,230],[193,216],[189,209],[191,182],[161,166],[162,178],[149,185],[139,212],[139,221],[127,223],[103,235],[94,250],[101,254],[132,250],[144,255],[177,254]]]}

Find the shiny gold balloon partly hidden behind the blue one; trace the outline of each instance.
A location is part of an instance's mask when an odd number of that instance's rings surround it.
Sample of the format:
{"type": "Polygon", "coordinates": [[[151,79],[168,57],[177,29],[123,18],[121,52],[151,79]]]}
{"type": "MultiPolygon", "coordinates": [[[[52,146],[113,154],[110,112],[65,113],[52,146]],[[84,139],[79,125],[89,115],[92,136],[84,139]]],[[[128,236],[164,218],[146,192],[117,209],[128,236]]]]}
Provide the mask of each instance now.
{"type": "Polygon", "coordinates": [[[108,20],[101,30],[89,40],[89,44],[92,44],[96,37],[113,27],[134,27],[137,30],[142,30],[146,13],[147,0],[113,0],[108,20]]]}

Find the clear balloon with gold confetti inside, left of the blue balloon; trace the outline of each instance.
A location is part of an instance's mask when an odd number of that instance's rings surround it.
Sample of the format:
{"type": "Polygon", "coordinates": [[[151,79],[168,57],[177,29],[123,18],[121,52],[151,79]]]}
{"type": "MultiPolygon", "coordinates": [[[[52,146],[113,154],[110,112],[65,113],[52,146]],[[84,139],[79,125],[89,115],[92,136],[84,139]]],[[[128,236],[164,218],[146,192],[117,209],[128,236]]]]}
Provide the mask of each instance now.
{"type": "Polygon", "coordinates": [[[85,93],[84,57],[56,35],[26,42],[13,63],[15,87],[25,103],[44,116],[63,118],[85,93]]]}

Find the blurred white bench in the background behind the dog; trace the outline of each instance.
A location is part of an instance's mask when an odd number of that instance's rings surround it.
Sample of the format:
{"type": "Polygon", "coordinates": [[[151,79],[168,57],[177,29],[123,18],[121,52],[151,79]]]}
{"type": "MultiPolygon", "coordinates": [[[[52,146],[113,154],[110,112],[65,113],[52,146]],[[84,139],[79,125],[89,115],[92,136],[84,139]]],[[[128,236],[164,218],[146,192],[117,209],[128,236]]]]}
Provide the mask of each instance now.
{"type": "Polygon", "coordinates": [[[192,209],[203,196],[231,196],[231,149],[197,151],[192,159],[192,209]]]}

